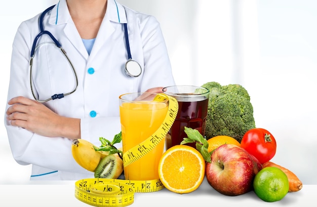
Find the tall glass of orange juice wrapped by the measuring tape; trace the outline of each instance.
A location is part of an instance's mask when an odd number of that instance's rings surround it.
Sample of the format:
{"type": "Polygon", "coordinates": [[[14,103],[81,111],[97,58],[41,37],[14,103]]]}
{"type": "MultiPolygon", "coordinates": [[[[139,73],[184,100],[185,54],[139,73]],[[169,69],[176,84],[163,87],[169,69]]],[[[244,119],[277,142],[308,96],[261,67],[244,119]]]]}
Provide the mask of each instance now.
{"type": "MultiPolygon", "coordinates": [[[[120,99],[120,120],[123,153],[149,138],[162,125],[168,112],[169,100],[162,94],[127,93],[120,99]],[[154,97],[162,96],[160,100],[154,97]]],[[[147,154],[124,168],[126,180],[159,179],[159,161],[165,139],[147,154]]]]}

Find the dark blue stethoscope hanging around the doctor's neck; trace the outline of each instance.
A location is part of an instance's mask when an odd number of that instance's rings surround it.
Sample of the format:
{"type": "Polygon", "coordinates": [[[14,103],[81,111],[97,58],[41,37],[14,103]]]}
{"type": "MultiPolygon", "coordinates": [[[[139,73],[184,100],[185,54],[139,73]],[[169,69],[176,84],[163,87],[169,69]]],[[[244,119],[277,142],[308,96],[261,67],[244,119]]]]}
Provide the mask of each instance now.
{"type": "MultiPolygon", "coordinates": [[[[33,45],[32,45],[32,49],[31,49],[31,59],[30,59],[30,86],[31,86],[31,91],[32,91],[32,95],[34,97],[34,99],[38,102],[47,102],[47,101],[50,101],[50,100],[54,100],[54,99],[61,99],[65,96],[68,96],[72,93],[74,93],[77,88],[78,88],[78,77],[77,77],[77,73],[76,73],[76,70],[73,66],[73,64],[71,63],[71,61],[69,60],[68,56],[66,55],[66,52],[64,51],[64,49],[62,48],[62,45],[58,42],[58,40],[53,36],[53,34],[47,30],[44,30],[44,26],[43,26],[43,19],[44,19],[44,16],[46,15],[46,13],[48,13],[50,10],[52,10],[53,8],[55,7],[55,5],[47,8],[42,14],[41,16],[39,17],[39,29],[41,30],[34,38],[34,41],[33,41],[33,45]],[[34,94],[34,90],[33,90],[33,81],[32,81],[32,65],[33,65],[33,58],[34,58],[34,55],[35,55],[35,49],[36,49],[36,43],[37,43],[37,40],[38,38],[43,35],[43,34],[47,34],[51,37],[51,39],[53,40],[53,42],[55,43],[55,45],[62,51],[63,55],[65,56],[65,58],[67,59],[68,63],[70,64],[71,68],[72,68],[72,71],[74,73],[74,76],[75,76],[75,80],[76,80],[76,86],[75,88],[69,92],[69,93],[63,93],[63,94],[54,94],[53,96],[51,96],[51,98],[48,98],[46,100],[39,100],[36,98],[35,94],[34,94]]],[[[125,64],[125,73],[130,76],[130,77],[138,77],[141,73],[142,73],[142,68],[140,66],[140,64],[133,60],[132,59],[132,56],[131,56],[131,51],[130,51],[130,44],[129,44],[129,36],[128,36],[128,26],[127,26],[127,23],[124,23],[124,30],[125,30],[125,33],[124,33],[124,36],[125,36],[125,39],[126,39],[126,46],[127,46],[127,53],[128,53],[128,60],[125,64]]]]}

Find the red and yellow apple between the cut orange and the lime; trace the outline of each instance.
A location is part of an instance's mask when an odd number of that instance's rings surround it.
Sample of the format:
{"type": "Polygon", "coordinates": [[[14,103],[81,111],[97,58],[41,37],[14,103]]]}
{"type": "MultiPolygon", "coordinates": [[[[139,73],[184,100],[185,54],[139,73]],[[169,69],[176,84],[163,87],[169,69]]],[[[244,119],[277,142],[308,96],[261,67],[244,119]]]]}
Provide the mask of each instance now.
{"type": "Polygon", "coordinates": [[[208,183],[224,195],[241,195],[253,189],[255,175],[262,169],[261,163],[245,149],[224,144],[211,155],[206,164],[208,183]]]}

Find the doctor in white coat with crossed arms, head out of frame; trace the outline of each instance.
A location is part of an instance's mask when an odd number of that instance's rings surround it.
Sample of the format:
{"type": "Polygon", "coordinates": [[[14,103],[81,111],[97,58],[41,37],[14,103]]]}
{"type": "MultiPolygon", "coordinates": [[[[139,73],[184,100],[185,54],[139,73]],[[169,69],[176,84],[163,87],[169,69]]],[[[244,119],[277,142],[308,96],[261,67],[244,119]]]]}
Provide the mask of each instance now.
{"type": "Polygon", "coordinates": [[[121,131],[119,95],[175,84],[162,31],[154,17],[115,0],[60,0],[40,16],[22,22],[13,42],[5,115],[12,154],[32,164],[31,180],[93,177],[74,161],[72,140],[111,140],[121,131]],[[128,48],[140,74],[125,69],[128,48]]]}

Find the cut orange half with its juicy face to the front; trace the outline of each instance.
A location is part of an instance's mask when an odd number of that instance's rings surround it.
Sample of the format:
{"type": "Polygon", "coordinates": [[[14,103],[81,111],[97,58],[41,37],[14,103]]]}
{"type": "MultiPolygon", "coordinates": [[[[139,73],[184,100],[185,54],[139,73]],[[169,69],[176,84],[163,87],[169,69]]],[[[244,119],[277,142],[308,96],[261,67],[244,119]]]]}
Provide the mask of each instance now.
{"type": "Polygon", "coordinates": [[[170,191],[189,193],[202,184],[205,168],[205,160],[199,151],[187,145],[176,145],[162,155],[159,176],[170,191]]]}

